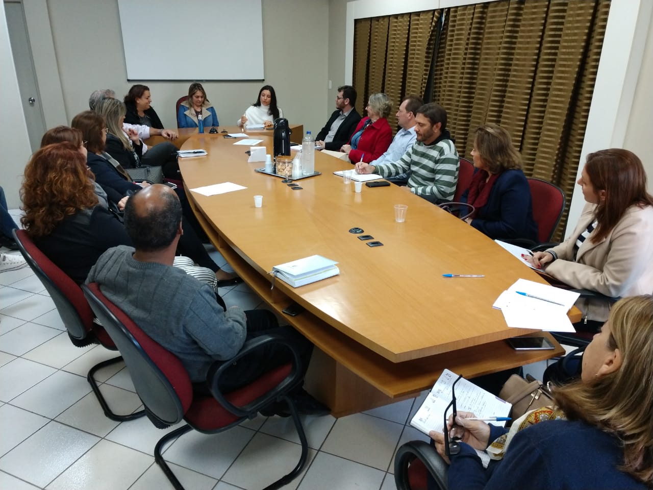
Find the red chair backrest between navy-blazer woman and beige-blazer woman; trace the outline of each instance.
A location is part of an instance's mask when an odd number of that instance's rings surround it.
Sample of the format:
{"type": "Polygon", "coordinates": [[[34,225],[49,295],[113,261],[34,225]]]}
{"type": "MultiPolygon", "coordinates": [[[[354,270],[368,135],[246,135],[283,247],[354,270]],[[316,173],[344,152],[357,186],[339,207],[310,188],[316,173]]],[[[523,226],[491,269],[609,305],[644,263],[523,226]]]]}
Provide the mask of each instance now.
{"type": "Polygon", "coordinates": [[[537,241],[547,243],[556,231],[565,210],[565,194],[558,186],[539,178],[527,178],[537,223],[537,241]]]}

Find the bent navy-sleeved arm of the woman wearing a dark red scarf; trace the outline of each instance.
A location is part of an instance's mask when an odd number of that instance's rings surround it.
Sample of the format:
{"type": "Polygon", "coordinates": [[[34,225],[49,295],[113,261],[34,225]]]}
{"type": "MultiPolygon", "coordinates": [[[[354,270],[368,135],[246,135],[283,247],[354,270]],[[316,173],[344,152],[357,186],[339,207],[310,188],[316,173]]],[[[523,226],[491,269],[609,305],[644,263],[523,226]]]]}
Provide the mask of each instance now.
{"type": "MultiPolygon", "coordinates": [[[[515,183],[517,184],[517,183],[515,183]]],[[[499,220],[483,220],[474,218],[471,226],[481,231],[488,237],[494,238],[530,238],[520,237],[518,233],[523,230],[528,219],[528,201],[530,200],[530,189],[524,180],[525,188],[520,186],[509,186],[500,196],[499,220]]]]}

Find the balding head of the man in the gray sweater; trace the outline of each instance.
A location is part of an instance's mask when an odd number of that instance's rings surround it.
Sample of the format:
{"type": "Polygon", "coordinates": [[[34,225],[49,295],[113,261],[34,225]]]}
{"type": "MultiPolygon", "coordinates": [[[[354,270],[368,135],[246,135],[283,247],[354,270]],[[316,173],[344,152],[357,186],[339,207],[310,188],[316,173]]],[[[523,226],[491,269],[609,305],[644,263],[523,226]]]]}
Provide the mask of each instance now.
{"type": "Polygon", "coordinates": [[[168,186],[154,184],[127,199],[125,229],[136,250],[157,252],[169,246],[182,221],[182,204],[168,186]]]}

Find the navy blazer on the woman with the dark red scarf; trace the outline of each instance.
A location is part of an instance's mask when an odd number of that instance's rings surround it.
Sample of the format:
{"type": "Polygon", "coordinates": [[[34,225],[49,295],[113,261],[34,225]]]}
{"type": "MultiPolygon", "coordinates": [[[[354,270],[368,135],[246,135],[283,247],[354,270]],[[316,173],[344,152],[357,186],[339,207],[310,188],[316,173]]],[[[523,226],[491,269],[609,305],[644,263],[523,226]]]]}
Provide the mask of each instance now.
{"type": "MultiPolygon", "coordinates": [[[[468,191],[461,201],[466,203],[468,191]]],[[[526,238],[537,243],[530,187],[524,172],[506,170],[494,181],[488,202],[479,208],[471,225],[493,240],[526,238]]]]}

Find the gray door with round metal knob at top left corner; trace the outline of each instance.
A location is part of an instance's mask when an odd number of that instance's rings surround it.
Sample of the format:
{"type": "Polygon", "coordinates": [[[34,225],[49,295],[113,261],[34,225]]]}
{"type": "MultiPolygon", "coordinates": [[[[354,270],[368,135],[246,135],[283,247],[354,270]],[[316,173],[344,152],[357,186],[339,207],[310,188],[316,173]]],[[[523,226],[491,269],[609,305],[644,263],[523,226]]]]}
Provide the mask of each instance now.
{"type": "Polygon", "coordinates": [[[20,90],[23,112],[27,122],[29,144],[32,151],[35,152],[39,149],[40,139],[46,128],[22,3],[5,1],[5,14],[7,15],[9,41],[14,56],[16,75],[18,76],[18,89],[20,90]]]}

